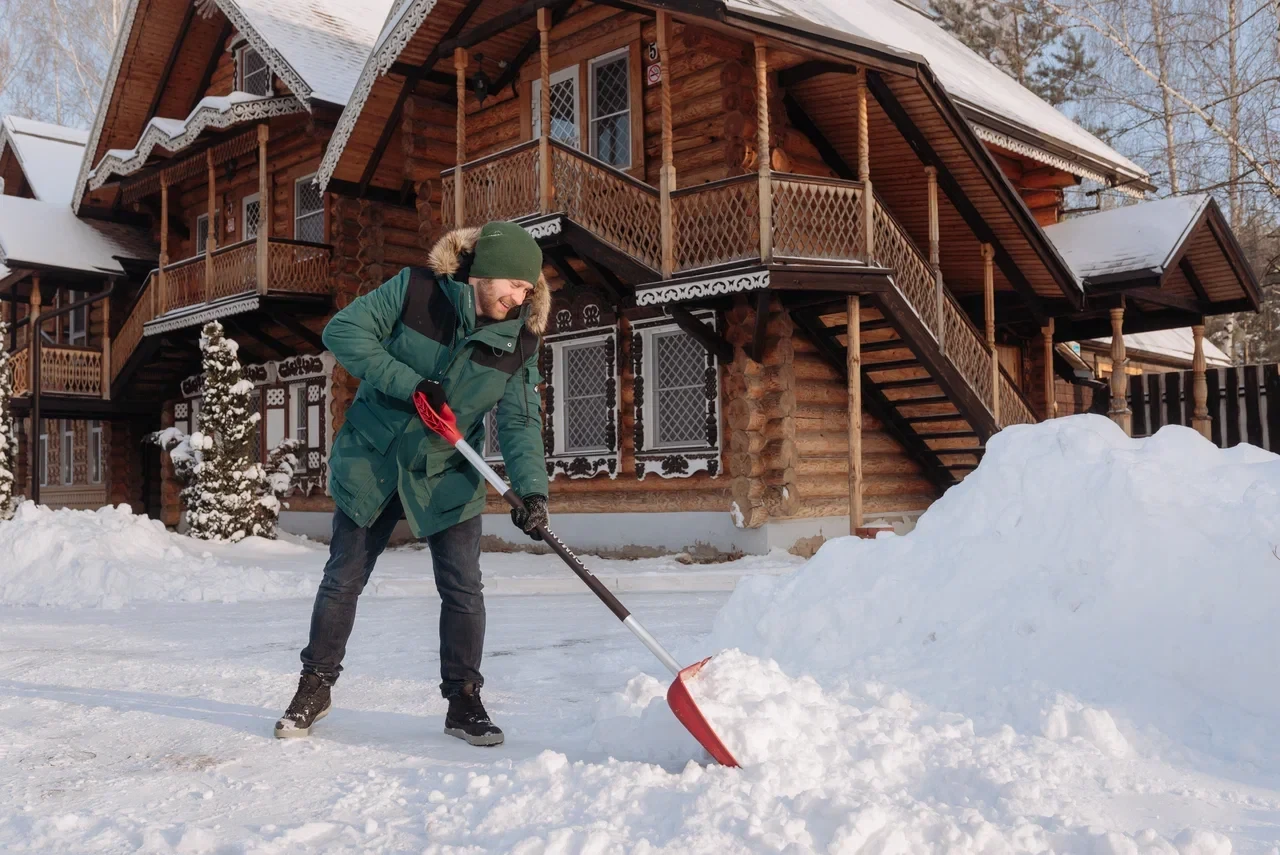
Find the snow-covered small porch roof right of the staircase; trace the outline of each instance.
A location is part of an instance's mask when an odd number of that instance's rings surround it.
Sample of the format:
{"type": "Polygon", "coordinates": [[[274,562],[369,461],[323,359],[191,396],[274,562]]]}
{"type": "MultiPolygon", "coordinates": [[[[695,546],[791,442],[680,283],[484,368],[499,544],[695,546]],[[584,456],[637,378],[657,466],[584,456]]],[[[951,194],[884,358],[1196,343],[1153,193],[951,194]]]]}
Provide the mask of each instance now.
{"type": "Polygon", "coordinates": [[[1210,201],[1197,193],[1126,205],[1047,225],[1044,234],[1080,279],[1160,275],[1210,201]]]}

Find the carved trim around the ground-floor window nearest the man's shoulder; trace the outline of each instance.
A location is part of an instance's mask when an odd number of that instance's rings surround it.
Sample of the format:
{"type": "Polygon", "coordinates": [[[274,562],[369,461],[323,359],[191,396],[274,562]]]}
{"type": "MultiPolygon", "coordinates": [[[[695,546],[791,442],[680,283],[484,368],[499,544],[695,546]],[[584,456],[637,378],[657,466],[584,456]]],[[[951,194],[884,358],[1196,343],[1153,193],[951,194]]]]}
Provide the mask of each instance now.
{"type": "Polygon", "coordinates": [[[543,339],[541,371],[545,378],[543,390],[543,452],[547,457],[547,477],[554,480],[557,475],[564,474],[571,479],[595,477],[607,474],[609,479],[618,476],[618,463],[621,461],[621,430],[620,430],[620,343],[617,325],[590,326],[571,333],[548,335],[543,339]],[[605,348],[605,401],[608,439],[605,448],[599,452],[566,452],[563,449],[563,407],[558,406],[556,389],[563,389],[563,357],[566,347],[577,344],[604,343],[605,348]]]}

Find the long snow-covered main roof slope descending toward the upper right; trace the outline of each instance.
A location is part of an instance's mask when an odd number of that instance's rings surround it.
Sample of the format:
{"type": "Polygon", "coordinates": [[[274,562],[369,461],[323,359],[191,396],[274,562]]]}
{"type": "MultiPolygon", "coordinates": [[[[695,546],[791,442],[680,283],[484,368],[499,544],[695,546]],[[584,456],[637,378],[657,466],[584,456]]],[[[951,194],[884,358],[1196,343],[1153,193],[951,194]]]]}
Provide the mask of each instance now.
{"type": "MultiPolygon", "coordinates": [[[[1112,169],[1147,180],[1135,163],[966,47],[919,9],[897,0],[724,0],[730,12],[818,36],[924,59],[947,93],[998,125],[1025,129],[1112,169]]],[[[970,115],[970,119],[974,116],[970,115]]],[[[980,124],[980,118],[977,119],[980,124]]]]}

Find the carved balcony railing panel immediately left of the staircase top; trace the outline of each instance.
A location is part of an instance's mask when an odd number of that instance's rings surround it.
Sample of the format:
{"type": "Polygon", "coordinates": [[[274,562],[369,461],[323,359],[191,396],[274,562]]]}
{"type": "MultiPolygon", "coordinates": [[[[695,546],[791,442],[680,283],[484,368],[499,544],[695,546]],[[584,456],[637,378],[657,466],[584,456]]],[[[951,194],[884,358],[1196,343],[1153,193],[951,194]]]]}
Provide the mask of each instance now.
{"type": "Polygon", "coordinates": [[[773,173],[773,255],[847,261],[864,259],[863,186],[773,173]]]}

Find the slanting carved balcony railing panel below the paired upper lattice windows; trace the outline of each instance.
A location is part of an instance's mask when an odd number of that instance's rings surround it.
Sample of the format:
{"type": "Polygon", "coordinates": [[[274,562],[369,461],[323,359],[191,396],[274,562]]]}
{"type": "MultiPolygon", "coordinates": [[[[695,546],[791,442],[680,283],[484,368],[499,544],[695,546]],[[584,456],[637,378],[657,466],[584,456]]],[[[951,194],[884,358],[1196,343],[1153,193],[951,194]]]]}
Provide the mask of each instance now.
{"type": "Polygon", "coordinates": [[[662,268],[657,189],[554,141],[552,183],[558,210],[636,261],[662,268]]]}

